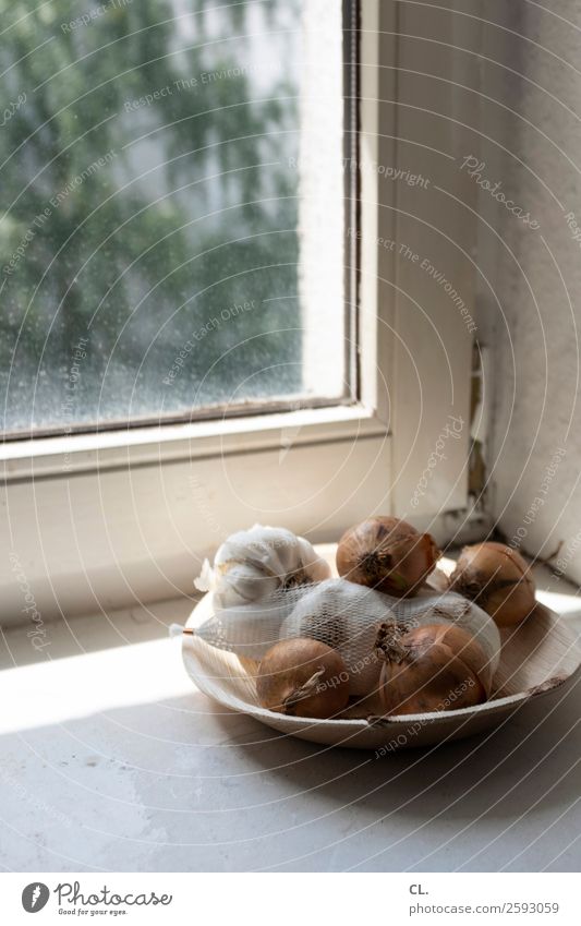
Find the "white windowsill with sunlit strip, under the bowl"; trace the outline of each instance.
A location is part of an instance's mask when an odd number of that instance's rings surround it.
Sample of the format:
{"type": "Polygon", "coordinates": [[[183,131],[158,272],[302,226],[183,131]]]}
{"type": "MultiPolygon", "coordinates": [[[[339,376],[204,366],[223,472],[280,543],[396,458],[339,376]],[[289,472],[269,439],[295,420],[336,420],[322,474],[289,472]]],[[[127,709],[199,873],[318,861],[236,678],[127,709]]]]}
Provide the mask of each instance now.
{"type": "MultiPolygon", "coordinates": [[[[546,576],[535,567],[541,598],[546,576]]],[[[565,582],[553,590],[576,594],[565,582]]],[[[280,736],[202,695],[167,635],[190,609],[179,599],[55,622],[50,660],[32,654],[25,627],[5,633],[0,692],[15,707],[0,723],[11,828],[0,864],[576,870],[574,692],[549,717],[543,701],[493,733],[375,760],[280,736]],[[499,781],[518,787],[505,795],[499,781]]]]}

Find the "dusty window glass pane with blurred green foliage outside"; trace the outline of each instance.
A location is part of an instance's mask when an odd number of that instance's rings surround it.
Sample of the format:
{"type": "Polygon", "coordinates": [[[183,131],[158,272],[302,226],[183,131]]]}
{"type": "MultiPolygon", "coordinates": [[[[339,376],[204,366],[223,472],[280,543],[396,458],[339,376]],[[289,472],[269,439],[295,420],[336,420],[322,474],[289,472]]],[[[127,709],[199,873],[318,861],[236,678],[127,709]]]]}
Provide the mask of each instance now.
{"type": "Polygon", "coordinates": [[[0,11],[4,430],[340,399],[341,4],[0,11]]]}

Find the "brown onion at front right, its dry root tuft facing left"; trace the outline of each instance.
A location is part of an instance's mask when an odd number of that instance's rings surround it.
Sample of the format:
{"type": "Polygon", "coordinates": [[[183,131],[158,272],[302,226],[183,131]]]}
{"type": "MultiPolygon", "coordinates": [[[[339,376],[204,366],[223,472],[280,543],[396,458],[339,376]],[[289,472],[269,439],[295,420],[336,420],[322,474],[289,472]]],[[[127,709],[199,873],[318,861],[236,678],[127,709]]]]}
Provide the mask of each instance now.
{"type": "Polygon", "coordinates": [[[461,627],[425,624],[406,630],[384,624],[377,649],[385,659],[378,693],[385,714],[458,710],[489,694],[484,650],[461,627]]]}

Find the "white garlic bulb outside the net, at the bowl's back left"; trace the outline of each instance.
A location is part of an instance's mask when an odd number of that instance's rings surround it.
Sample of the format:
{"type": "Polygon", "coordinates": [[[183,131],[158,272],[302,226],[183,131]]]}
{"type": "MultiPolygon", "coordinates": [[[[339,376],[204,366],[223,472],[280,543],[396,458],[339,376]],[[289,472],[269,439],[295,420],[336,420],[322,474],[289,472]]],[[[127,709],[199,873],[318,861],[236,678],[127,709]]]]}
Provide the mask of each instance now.
{"type": "Polygon", "coordinates": [[[196,588],[211,590],[217,609],[237,608],[329,576],[329,565],[307,540],[285,528],[254,525],[221,544],[214,569],[204,564],[196,588]]]}

